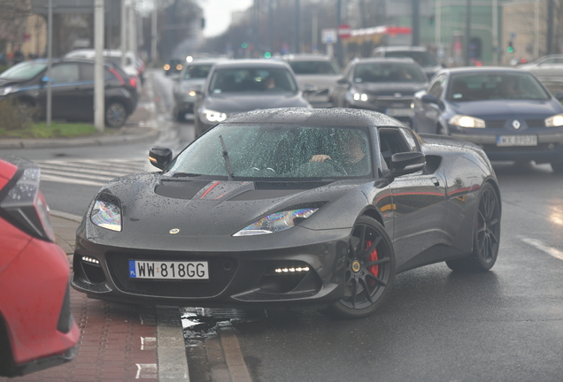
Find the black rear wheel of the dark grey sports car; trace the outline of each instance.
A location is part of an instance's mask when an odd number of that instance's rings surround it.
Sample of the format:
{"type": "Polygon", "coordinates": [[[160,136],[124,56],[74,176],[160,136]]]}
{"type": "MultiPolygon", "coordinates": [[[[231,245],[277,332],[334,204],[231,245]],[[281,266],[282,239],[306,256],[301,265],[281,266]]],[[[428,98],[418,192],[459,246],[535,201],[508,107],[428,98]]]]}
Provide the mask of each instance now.
{"type": "Polygon", "coordinates": [[[500,203],[495,189],[485,183],[475,217],[473,252],[446,264],[452,271],[489,271],[497,261],[499,246],[500,203]]]}

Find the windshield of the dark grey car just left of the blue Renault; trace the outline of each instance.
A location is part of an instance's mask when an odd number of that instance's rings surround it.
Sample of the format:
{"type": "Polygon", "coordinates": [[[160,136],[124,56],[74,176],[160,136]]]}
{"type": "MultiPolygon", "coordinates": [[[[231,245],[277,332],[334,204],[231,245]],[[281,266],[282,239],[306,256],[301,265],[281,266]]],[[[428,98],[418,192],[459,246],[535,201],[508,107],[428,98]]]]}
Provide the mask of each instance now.
{"type": "Polygon", "coordinates": [[[412,63],[366,63],[354,68],[354,82],[426,82],[426,75],[412,63]]]}

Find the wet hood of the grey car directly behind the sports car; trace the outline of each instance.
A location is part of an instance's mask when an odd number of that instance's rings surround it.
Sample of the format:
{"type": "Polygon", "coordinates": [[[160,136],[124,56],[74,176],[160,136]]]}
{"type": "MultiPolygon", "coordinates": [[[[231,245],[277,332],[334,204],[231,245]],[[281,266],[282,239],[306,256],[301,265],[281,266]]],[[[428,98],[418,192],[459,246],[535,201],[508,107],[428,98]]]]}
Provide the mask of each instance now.
{"type": "Polygon", "coordinates": [[[301,93],[229,93],[228,95],[209,95],[203,104],[205,109],[224,113],[239,113],[258,109],[280,107],[309,107],[301,93]]]}

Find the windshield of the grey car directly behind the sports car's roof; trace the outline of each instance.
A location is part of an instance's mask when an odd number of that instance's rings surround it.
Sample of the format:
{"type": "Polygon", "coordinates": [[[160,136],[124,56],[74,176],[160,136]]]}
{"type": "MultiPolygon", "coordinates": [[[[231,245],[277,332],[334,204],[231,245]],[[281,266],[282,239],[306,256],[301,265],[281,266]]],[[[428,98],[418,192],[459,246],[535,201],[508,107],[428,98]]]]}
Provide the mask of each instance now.
{"type": "Polygon", "coordinates": [[[209,91],[212,94],[235,92],[297,93],[297,84],[288,69],[232,68],[212,73],[209,91]]]}

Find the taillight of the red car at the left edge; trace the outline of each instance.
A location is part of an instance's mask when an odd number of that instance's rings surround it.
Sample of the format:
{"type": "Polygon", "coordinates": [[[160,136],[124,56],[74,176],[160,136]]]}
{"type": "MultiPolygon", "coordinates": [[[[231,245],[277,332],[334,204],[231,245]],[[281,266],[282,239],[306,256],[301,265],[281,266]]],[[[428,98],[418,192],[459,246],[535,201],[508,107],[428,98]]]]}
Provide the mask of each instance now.
{"type": "Polygon", "coordinates": [[[39,191],[39,178],[39,167],[26,162],[2,190],[4,197],[0,200],[0,210],[22,231],[45,241],[55,241],[49,206],[39,191]]]}

